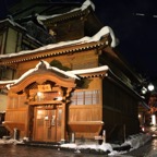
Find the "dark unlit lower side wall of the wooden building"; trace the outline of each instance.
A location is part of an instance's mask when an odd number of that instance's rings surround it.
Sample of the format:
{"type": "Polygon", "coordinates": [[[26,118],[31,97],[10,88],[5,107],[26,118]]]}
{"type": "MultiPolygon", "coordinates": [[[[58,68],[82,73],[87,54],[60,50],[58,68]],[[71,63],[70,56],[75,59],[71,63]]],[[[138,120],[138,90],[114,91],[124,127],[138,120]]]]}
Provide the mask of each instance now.
{"type": "Polygon", "coordinates": [[[121,86],[104,80],[102,117],[108,140],[138,133],[137,98],[121,86]]]}

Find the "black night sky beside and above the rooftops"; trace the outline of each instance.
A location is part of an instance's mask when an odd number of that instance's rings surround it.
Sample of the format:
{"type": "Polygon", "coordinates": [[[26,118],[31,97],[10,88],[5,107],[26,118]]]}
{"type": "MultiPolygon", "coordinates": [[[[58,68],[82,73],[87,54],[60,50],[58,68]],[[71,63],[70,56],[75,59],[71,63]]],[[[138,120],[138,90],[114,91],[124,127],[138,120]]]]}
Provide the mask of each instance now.
{"type": "MultiPolygon", "coordinates": [[[[9,5],[17,1],[20,0],[0,0],[0,17],[7,14],[9,5]]],[[[157,15],[157,2],[155,0],[92,1],[96,7],[97,17],[104,25],[110,26],[120,40],[118,50],[129,64],[143,76],[157,80],[157,17],[153,17],[157,15]]]]}

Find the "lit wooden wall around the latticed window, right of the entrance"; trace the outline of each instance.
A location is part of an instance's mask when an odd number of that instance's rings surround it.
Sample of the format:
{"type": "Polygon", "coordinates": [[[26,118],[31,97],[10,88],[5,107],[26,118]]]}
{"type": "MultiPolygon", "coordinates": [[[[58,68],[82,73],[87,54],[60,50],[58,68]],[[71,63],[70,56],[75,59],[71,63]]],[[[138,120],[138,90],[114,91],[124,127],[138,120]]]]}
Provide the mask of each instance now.
{"type": "Polygon", "coordinates": [[[101,101],[101,78],[92,78],[87,89],[77,89],[75,92],[98,90],[98,104],[94,105],[70,105],[68,125],[69,131],[74,132],[76,138],[85,136],[94,138],[99,135],[102,122],[102,101],[101,101]]]}

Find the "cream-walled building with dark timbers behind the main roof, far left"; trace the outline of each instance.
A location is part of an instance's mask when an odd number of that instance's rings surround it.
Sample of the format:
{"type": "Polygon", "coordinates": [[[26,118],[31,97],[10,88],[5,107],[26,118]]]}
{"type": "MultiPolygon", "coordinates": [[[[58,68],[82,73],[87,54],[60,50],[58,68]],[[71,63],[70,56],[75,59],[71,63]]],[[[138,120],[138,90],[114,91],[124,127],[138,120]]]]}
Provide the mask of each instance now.
{"type": "Polygon", "coordinates": [[[0,55],[35,49],[41,46],[44,44],[28,36],[25,27],[22,27],[10,19],[0,21],[0,55]]]}

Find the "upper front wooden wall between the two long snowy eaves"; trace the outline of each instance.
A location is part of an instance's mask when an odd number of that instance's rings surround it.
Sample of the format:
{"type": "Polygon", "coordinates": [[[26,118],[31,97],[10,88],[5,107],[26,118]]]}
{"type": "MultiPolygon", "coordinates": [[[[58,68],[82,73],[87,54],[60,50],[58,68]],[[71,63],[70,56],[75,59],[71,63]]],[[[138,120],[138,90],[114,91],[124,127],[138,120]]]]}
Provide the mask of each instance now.
{"type": "MultiPolygon", "coordinates": [[[[71,70],[77,70],[77,69],[87,69],[87,68],[97,67],[98,56],[95,50],[88,50],[86,51],[86,55],[76,52],[76,53],[71,53],[71,55],[45,58],[45,61],[47,62],[51,62],[52,60],[60,61],[62,65],[65,65],[70,68],[71,70]]],[[[38,62],[39,62],[39,59],[21,62],[16,69],[17,77],[20,77],[29,69],[33,69],[38,62]]]]}

